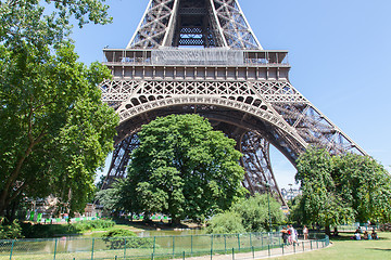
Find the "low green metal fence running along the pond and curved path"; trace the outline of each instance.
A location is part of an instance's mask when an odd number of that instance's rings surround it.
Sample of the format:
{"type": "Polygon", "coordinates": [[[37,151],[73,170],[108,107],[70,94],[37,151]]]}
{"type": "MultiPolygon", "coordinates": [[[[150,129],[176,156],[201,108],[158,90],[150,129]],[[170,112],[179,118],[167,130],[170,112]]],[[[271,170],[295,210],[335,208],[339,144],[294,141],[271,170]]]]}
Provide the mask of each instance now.
{"type": "Polygon", "coordinates": [[[0,240],[0,259],[254,259],[328,246],[328,236],[311,234],[283,245],[280,233],[0,240]],[[228,255],[228,256],[227,256],[228,255]],[[223,258],[222,258],[223,257],[223,258]]]}

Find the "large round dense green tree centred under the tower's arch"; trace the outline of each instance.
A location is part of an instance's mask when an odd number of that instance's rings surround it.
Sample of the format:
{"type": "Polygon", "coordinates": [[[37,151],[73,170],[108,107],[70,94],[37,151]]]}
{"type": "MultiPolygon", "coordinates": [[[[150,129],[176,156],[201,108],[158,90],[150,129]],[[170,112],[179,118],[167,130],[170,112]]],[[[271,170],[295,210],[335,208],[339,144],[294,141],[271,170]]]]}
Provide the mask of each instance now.
{"type": "Polygon", "coordinates": [[[171,115],[142,127],[129,165],[133,212],[203,220],[243,195],[236,142],[198,115],[171,115]]]}

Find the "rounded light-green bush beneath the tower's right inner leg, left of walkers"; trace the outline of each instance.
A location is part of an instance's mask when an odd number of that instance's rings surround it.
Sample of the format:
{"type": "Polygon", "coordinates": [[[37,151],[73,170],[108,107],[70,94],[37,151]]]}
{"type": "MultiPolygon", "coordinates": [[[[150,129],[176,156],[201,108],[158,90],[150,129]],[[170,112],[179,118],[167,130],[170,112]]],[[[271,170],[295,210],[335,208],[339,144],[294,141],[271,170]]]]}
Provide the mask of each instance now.
{"type": "MultiPolygon", "coordinates": [[[[285,221],[281,205],[274,198],[269,197],[272,224],[280,224],[285,221]]],[[[263,232],[269,229],[269,208],[267,195],[255,194],[250,198],[241,199],[234,204],[231,210],[237,212],[241,219],[247,232],[263,232]]]]}

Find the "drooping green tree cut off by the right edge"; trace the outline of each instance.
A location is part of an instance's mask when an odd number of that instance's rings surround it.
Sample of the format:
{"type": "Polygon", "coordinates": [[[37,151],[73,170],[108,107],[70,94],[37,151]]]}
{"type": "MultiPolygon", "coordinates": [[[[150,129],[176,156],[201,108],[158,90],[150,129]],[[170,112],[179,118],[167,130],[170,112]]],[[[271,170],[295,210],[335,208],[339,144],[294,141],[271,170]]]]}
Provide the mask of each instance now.
{"type": "Polygon", "coordinates": [[[332,178],[357,222],[390,221],[391,177],[369,156],[345,154],[332,157],[332,178]]]}

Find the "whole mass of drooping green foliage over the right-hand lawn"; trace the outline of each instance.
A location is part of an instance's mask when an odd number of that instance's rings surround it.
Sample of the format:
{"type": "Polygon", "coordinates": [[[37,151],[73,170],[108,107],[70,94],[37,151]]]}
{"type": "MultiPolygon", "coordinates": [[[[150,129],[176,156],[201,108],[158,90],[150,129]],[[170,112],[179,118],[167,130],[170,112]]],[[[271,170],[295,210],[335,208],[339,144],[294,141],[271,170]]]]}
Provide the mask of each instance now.
{"type": "Polygon", "coordinates": [[[330,156],[323,148],[310,147],[299,157],[297,168],[302,196],[292,219],[326,227],[390,219],[390,176],[373,158],[330,156]]]}

